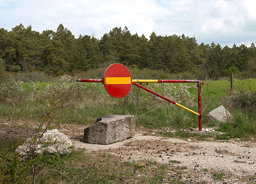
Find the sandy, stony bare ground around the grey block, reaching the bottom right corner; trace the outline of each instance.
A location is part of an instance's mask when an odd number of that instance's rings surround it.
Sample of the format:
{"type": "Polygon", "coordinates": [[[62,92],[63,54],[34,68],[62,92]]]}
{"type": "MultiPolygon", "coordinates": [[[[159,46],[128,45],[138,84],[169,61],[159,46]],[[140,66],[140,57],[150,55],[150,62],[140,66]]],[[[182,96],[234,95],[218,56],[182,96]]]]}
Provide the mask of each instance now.
{"type": "MultiPolygon", "coordinates": [[[[119,161],[156,161],[170,165],[170,175],[173,166],[183,167],[186,172],[182,176],[187,183],[256,183],[256,141],[253,140],[198,141],[196,137],[168,138],[139,128],[132,138],[101,145],[82,142],[84,128],[86,126],[68,125],[60,131],[71,138],[76,150],[83,150],[92,156],[106,153],[118,156],[119,161]],[[223,172],[225,177],[221,181],[214,180],[210,172],[223,172]]],[[[8,122],[1,122],[0,136],[18,138],[20,134],[8,122]]]]}

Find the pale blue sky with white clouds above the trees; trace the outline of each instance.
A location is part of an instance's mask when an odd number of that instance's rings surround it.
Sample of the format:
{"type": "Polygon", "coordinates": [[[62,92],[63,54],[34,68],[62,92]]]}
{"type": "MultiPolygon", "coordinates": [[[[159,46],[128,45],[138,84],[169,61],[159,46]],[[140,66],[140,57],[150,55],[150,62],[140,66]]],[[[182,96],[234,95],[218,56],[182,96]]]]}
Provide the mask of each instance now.
{"type": "Polygon", "coordinates": [[[131,34],[195,36],[222,47],[256,42],[256,0],[0,0],[0,28],[22,24],[56,31],[59,24],[101,39],[115,27],[131,34]]]}

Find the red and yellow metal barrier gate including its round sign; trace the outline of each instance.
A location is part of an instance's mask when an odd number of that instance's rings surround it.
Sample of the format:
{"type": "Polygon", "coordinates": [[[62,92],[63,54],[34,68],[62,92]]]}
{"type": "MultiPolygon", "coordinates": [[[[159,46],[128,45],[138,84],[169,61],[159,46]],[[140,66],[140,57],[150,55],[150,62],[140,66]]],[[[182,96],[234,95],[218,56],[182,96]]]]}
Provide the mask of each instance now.
{"type": "Polygon", "coordinates": [[[106,91],[115,98],[122,98],[126,96],[130,90],[132,84],[144,89],[166,101],[169,101],[176,106],[179,106],[195,115],[198,116],[199,130],[202,130],[202,98],[201,98],[201,84],[204,86],[204,82],[201,79],[197,80],[140,80],[132,79],[130,71],[126,66],[120,63],[114,63],[106,69],[103,79],[77,79],[77,82],[98,82],[103,83],[106,91]],[[138,84],[140,83],[140,84],[138,84]],[[198,88],[198,112],[195,112],[179,103],[172,101],[150,89],[145,88],[141,83],[197,83],[198,88]]]}

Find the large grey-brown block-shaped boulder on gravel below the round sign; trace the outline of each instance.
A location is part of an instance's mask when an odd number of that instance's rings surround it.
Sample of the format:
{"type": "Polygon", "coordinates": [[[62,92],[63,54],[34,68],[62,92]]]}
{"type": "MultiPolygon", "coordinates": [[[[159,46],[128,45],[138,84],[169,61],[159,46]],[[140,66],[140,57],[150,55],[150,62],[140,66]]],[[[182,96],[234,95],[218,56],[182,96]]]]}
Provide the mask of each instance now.
{"type": "Polygon", "coordinates": [[[134,115],[109,115],[98,118],[84,129],[83,141],[94,144],[111,144],[135,135],[134,115]]]}

